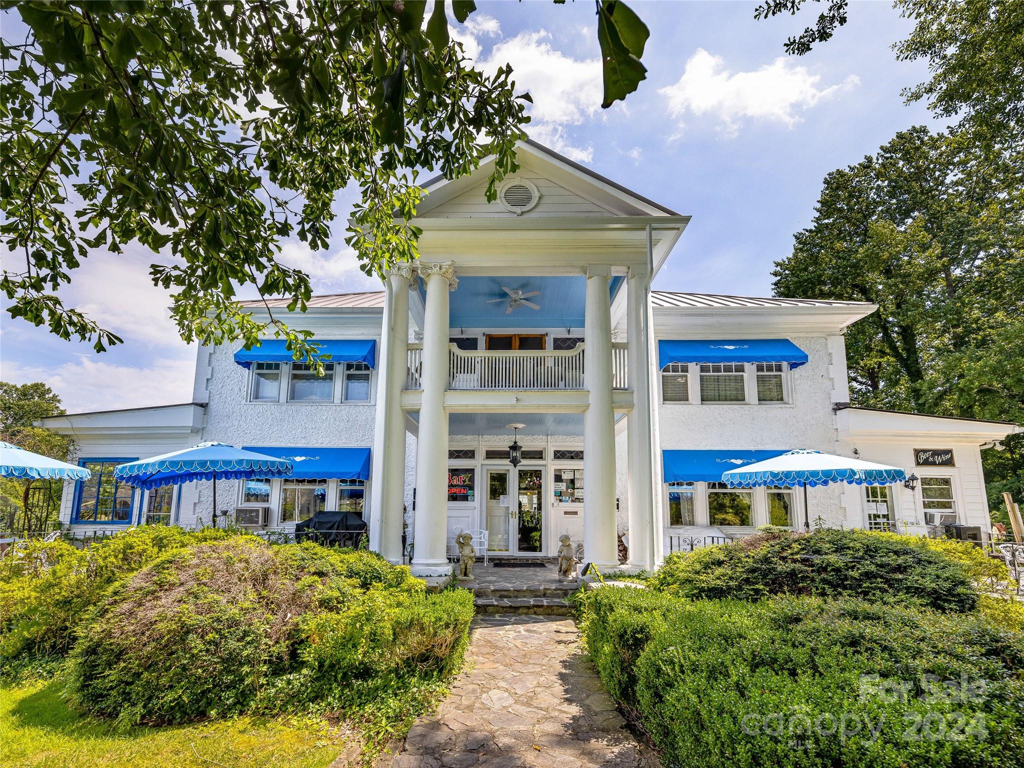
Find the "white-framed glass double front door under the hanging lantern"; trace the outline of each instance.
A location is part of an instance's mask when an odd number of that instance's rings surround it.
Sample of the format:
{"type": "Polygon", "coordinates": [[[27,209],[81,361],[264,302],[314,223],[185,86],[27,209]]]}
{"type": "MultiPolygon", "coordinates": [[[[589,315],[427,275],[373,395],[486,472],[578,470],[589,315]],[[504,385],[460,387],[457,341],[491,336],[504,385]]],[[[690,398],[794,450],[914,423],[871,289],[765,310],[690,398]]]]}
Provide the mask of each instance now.
{"type": "Polygon", "coordinates": [[[544,470],[488,468],[484,473],[487,550],[511,555],[544,552],[544,470]]]}

